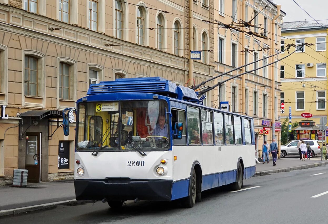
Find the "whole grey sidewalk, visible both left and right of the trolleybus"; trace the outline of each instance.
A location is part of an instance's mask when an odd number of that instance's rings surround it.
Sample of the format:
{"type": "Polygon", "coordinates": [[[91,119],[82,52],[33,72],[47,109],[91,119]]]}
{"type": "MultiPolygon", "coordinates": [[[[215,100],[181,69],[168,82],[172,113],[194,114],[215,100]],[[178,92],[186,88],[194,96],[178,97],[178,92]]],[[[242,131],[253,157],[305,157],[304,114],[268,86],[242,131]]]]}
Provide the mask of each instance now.
{"type": "MultiPolygon", "coordinates": [[[[328,164],[328,160],[321,161],[320,157],[305,161],[300,161],[295,157],[286,157],[278,159],[276,166],[273,166],[272,160],[269,164],[256,164],[255,176],[307,169],[325,164],[328,164]]],[[[82,202],[84,201],[75,200],[72,180],[28,183],[27,187],[0,187],[0,217],[53,208],[59,204],[71,205],[82,202]]]]}

